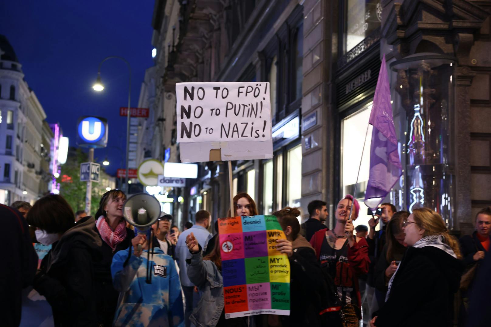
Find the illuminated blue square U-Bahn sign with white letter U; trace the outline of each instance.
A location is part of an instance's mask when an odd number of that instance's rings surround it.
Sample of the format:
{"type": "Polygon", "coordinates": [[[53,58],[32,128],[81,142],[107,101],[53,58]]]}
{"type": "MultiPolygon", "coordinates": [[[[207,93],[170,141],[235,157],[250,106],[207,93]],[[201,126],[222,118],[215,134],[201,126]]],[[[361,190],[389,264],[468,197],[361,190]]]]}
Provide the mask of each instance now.
{"type": "Polygon", "coordinates": [[[77,145],[105,148],[108,144],[108,121],[102,117],[82,116],[77,122],[77,145]]]}

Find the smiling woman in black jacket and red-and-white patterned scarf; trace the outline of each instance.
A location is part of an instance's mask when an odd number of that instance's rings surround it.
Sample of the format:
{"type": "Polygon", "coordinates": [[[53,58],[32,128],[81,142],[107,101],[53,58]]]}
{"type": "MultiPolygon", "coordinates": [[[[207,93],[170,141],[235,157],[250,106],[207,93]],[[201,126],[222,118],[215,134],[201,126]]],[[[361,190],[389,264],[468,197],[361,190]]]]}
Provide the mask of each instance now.
{"type": "MultiPolygon", "coordinates": [[[[97,283],[97,316],[99,326],[112,326],[119,293],[112,285],[111,262],[118,251],[126,250],[135,237],[132,229],[126,227],[123,205],[126,195],[120,190],[110,190],[101,198],[96,218],[95,231],[102,239],[102,260],[95,263],[97,283]]],[[[82,218],[83,220],[84,218],[82,218]]],[[[80,221],[77,222],[80,224],[80,221]]]]}

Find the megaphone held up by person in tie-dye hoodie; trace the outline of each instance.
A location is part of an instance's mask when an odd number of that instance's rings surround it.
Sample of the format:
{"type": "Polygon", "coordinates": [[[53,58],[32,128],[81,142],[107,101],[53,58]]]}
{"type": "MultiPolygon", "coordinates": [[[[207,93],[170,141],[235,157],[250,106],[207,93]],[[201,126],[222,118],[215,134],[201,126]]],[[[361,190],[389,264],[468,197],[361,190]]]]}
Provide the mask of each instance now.
{"type": "MultiPolygon", "coordinates": [[[[159,200],[147,193],[132,195],[123,206],[124,219],[130,225],[135,226],[136,232],[139,234],[146,234],[150,226],[159,219],[160,214],[159,200]]],[[[138,244],[138,251],[141,251],[141,244],[138,244]]]]}

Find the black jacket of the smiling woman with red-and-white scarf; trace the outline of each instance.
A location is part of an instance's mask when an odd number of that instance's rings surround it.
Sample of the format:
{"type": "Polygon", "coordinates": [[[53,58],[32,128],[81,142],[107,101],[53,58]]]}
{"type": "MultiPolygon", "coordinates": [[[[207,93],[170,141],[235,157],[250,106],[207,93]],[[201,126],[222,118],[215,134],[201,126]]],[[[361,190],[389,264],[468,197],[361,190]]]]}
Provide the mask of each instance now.
{"type": "Polygon", "coordinates": [[[128,250],[131,245],[131,240],[135,237],[135,232],[130,228],[126,228],[126,238],[123,242],[116,245],[116,248],[112,251],[111,247],[102,240],[101,234],[96,226],[94,226],[94,230],[102,242],[100,248],[102,259],[94,265],[95,282],[97,286],[97,320],[100,325],[112,326],[119,297],[119,293],[114,289],[114,286],[112,286],[112,256],[118,251],[128,250]]]}

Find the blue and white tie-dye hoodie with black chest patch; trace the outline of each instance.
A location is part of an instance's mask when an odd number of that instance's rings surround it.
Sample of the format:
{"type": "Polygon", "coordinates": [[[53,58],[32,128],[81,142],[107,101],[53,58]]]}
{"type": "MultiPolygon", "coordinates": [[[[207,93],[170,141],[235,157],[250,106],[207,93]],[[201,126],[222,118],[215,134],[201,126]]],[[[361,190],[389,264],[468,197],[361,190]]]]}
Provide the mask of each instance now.
{"type": "Polygon", "coordinates": [[[120,292],[114,326],[184,326],[181,283],[174,260],[160,248],[154,248],[151,262],[152,283],[146,283],[148,251],[139,257],[128,250],[114,254],[111,274],[114,288],[120,292]]]}

